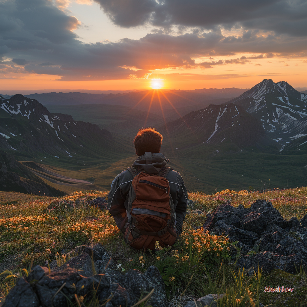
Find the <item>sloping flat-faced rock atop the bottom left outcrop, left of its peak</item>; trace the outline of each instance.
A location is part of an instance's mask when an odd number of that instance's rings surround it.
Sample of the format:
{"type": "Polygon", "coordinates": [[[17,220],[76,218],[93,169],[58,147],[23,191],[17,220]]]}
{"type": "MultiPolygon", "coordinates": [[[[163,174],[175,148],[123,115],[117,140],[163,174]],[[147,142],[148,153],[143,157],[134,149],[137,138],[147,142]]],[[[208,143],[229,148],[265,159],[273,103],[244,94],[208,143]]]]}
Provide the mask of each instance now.
{"type": "Polygon", "coordinates": [[[92,259],[88,254],[81,254],[76,257],[70,258],[66,263],[56,269],[56,271],[65,270],[67,267],[71,267],[79,271],[82,276],[90,277],[93,276],[94,273],[98,273],[99,269],[94,264],[94,268],[96,272],[93,272],[92,267],[92,259]]]}

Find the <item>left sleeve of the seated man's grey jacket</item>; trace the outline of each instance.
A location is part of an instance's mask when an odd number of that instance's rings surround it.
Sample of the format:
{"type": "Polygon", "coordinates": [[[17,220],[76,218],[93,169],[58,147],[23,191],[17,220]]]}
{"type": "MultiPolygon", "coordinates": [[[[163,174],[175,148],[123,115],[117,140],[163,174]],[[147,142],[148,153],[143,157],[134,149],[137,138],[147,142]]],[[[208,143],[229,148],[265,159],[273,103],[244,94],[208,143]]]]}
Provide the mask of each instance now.
{"type": "MultiPolygon", "coordinates": [[[[126,173],[128,171],[124,172],[126,173]]],[[[108,211],[113,216],[116,226],[121,231],[124,231],[124,227],[128,221],[125,201],[132,182],[132,180],[128,180],[130,176],[127,176],[124,172],[120,173],[113,180],[108,196],[108,211]]]]}

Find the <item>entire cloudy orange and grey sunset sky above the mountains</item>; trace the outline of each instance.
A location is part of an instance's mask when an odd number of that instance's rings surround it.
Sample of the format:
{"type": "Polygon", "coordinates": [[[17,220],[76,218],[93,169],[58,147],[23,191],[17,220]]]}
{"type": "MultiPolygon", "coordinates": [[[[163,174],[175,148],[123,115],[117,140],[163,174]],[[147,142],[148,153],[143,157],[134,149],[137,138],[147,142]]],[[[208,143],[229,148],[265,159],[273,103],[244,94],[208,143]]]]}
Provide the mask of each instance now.
{"type": "Polygon", "coordinates": [[[307,89],[306,0],[0,0],[0,93],[307,89]]]}

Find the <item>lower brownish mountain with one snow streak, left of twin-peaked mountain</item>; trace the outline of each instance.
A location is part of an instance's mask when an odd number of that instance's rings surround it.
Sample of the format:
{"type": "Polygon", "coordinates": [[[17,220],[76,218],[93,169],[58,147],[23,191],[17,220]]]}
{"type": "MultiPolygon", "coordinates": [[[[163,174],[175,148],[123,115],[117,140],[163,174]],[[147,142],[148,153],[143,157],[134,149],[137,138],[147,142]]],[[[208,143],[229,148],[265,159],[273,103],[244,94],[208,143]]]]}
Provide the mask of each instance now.
{"type": "Polygon", "coordinates": [[[184,146],[231,143],[239,148],[263,148],[275,145],[266,138],[260,121],[233,103],[210,105],[169,122],[166,127],[173,138],[180,136],[188,142],[184,146]]]}

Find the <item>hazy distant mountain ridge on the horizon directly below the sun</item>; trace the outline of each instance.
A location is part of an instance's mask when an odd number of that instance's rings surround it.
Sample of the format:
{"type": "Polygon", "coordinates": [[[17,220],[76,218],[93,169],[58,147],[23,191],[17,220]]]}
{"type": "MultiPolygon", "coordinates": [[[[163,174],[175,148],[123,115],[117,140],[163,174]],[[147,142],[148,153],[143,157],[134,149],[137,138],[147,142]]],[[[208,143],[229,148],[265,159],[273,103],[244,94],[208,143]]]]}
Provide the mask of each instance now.
{"type": "MultiPolygon", "coordinates": [[[[28,98],[36,99],[43,105],[77,105],[77,104],[109,104],[123,105],[161,114],[161,107],[170,109],[176,107],[187,107],[188,105],[198,105],[198,108],[207,107],[209,104],[219,104],[228,101],[231,97],[238,95],[237,89],[209,89],[208,93],[203,90],[180,91],[180,90],[146,90],[130,91],[124,93],[109,94],[89,94],[81,92],[51,92],[42,94],[25,95],[28,98]],[[212,91],[211,91],[212,90],[212,91]],[[210,92],[210,93],[209,93],[210,92]],[[218,99],[216,102],[215,99],[218,99]]],[[[240,90],[241,94],[243,90],[240,90]]],[[[3,96],[9,99],[11,96],[3,96]]],[[[194,108],[193,110],[196,110],[194,108]]],[[[189,111],[192,111],[189,110],[189,111]]]]}

